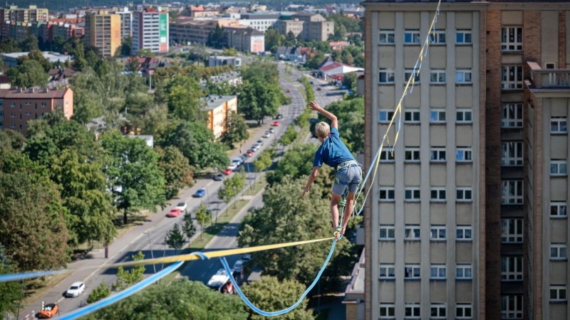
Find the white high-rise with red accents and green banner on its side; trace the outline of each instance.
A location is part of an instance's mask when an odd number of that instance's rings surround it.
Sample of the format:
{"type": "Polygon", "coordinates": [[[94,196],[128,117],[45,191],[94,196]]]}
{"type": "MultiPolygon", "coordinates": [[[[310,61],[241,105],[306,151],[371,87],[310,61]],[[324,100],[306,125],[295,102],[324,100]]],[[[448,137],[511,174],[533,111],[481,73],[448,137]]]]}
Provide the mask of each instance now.
{"type": "Polygon", "coordinates": [[[133,14],[133,54],[141,49],[168,52],[168,12],[145,8],[133,14]]]}

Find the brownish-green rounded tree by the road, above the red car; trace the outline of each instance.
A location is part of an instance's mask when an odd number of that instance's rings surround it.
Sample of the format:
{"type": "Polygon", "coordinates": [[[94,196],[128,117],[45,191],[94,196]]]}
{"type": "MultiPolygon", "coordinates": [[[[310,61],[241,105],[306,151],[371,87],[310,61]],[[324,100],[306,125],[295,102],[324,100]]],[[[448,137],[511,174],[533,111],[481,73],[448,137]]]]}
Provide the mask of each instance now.
{"type": "Polygon", "coordinates": [[[160,154],[158,166],[165,176],[167,199],[176,196],[185,186],[194,184],[194,171],[180,150],[167,146],[165,149],[158,147],[157,152],[160,154]]]}

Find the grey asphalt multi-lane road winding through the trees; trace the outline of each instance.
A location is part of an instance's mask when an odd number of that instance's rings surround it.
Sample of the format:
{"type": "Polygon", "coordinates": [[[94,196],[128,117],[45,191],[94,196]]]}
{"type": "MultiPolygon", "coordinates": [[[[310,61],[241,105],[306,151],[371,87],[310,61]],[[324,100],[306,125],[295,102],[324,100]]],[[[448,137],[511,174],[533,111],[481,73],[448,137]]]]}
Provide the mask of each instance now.
{"type": "MultiPolygon", "coordinates": [[[[279,70],[281,73],[283,73],[284,65],[279,64],[279,70]]],[[[273,139],[278,139],[278,137],[286,130],[286,127],[288,127],[294,121],[294,119],[304,110],[305,102],[300,92],[300,90],[304,90],[304,88],[299,82],[296,82],[296,79],[299,77],[300,74],[297,73],[296,70],[294,71],[293,75],[289,75],[289,78],[294,80],[293,83],[288,82],[287,77],[281,77],[280,82],[284,87],[284,90],[287,87],[289,87],[291,90],[291,92],[287,93],[287,95],[291,97],[291,104],[280,107],[279,112],[283,114],[284,117],[282,119],[279,119],[280,125],[278,127],[274,127],[274,137],[264,139],[264,141],[269,140],[269,142],[271,142],[273,139]]],[[[326,105],[328,102],[338,100],[338,97],[316,95],[316,100],[319,104],[326,105]]],[[[264,132],[266,132],[266,130],[269,129],[272,123],[272,119],[267,119],[257,134],[249,139],[249,142],[247,144],[244,144],[244,146],[242,146],[242,151],[246,151],[255,142],[257,142],[258,139],[262,139],[261,136],[264,134],[264,132]]],[[[264,145],[261,146],[261,149],[257,151],[256,154],[254,154],[254,157],[269,145],[271,145],[271,143],[264,143],[264,145]]],[[[240,154],[234,154],[232,157],[239,155],[240,154]]],[[[254,157],[248,159],[246,164],[244,164],[244,168],[248,171],[247,186],[249,186],[249,184],[252,183],[255,178],[255,174],[252,170],[252,161],[254,160],[254,157]]],[[[46,304],[58,302],[61,314],[66,314],[85,305],[88,295],[95,287],[100,284],[100,282],[104,280],[108,286],[115,282],[116,270],[106,270],[103,268],[103,266],[115,262],[131,260],[131,256],[138,251],[142,251],[145,254],[145,258],[175,255],[177,252],[168,248],[165,245],[164,240],[167,231],[172,228],[172,225],[175,223],[182,223],[182,215],[177,218],[167,218],[166,213],[170,211],[171,208],[176,206],[176,204],[180,201],[186,201],[188,204],[187,210],[193,212],[199,207],[200,203],[204,201],[207,207],[212,210],[215,217],[215,215],[224,210],[224,208],[227,206],[226,203],[219,201],[217,198],[218,189],[222,186],[222,181],[204,179],[196,182],[197,183],[195,186],[184,190],[178,198],[172,199],[171,204],[164,210],[151,215],[150,218],[145,221],[145,223],[135,226],[135,228],[131,229],[128,233],[125,233],[125,235],[123,235],[121,238],[115,239],[115,241],[109,247],[110,259],[105,259],[103,249],[99,249],[90,252],[90,255],[88,255],[86,259],[71,262],[68,265],[68,268],[76,271],[73,272],[71,276],[63,279],[63,281],[61,281],[59,284],[56,284],[56,286],[51,288],[51,290],[44,294],[43,297],[36,300],[35,302],[32,302],[31,304],[24,306],[24,310],[20,312],[20,318],[23,319],[25,318],[26,314],[32,314],[32,311],[34,311],[33,315],[35,316],[35,314],[37,314],[41,309],[42,301],[46,302],[46,304]],[[204,198],[192,198],[192,194],[194,194],[198,188],[206,189],[207,193],[204,198]],[[63,297],[63,292],[65,292],[66,289],[76,281],[85,282],[86,291],[78,298],[63,297]]],[[[224,234],[220,236],[216,242],[212,242],[212,245],[208,246],[208,249],[212,250],[221,249],[222,247],[235,247],[237,245],[235,239],[236,234],[232,232],[235,231],[235,233],[237,233],[237,225],[239,225],[239,221],[236,221],[234,225],[230,225],[230,229],[228,230],[227,235],[224,234]]],[[[230,265],[233,265],[237,259],[238,257],[230,257],[228,262],[230,265]]],[[[211,277],[211,275],[214,274],[220,267],[221,265],[217,261],[206,262],[205,265],[197,267],[197,270],[185,270],[185,274],[190,275],[190,279],[207,282],[209,277],[211,277]]],[[[155,270],[159,271],[161,268],[162,265],[149,265],[146,267],[145,276],[154,273],[155,270]]]]}

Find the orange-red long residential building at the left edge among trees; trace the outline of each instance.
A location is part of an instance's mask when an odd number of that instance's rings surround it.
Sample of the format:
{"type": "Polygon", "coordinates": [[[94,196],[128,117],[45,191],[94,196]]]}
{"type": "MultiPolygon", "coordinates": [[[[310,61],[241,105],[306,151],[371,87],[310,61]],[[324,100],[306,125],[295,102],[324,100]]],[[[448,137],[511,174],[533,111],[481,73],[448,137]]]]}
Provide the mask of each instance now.
{"type": "Polygon", "coordinates": [[[13,129],[26,134],[28,121],[41,119],[48,112],[61,110],[66,119],[73,116],[71,88],[23,88],[0,90],[0,129],[13,129]]]}

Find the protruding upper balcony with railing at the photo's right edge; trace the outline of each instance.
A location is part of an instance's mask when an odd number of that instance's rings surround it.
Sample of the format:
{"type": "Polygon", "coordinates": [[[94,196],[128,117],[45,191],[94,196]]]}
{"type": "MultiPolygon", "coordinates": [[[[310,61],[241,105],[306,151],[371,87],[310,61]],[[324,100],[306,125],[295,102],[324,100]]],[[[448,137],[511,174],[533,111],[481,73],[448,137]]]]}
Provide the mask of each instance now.
{"type": "Polygon", "coordinates": [[[570,69],[542,69],[538,63],[527,62],[530,79],[525,85],[534,95],[570,97],[570,69]]]}

